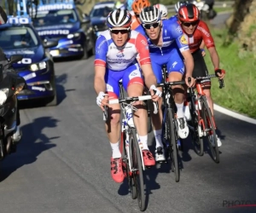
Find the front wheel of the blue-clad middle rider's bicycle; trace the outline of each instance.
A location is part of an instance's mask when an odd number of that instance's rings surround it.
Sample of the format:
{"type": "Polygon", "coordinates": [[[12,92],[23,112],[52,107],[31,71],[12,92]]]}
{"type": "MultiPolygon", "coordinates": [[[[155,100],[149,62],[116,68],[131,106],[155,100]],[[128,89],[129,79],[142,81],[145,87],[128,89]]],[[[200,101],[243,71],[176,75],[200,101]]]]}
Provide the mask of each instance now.
{"type": "Polygon", "coordinates": [[[175,118],[172,112],[172,109],[167,109],[167,117],[166,117],[166,128],[167,128],[167,138],[170,143],[169,152],[170,158],[172,160],[171,169],[172,172],[175,173],[175,181],[179,181],[179,168],[177,162],[177,128],[175,126],[175,118]]]}

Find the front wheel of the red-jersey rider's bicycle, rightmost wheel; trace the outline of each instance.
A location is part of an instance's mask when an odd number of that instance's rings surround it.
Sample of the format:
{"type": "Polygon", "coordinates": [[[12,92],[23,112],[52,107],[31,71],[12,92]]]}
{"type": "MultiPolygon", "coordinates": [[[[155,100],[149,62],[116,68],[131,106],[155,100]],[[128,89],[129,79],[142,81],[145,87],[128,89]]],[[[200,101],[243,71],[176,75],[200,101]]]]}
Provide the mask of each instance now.
{"type": "Polygon", "coordinates": [[[212,153],[212,158],[215,163],[219,163],[219,153],[218,153],[218,142],[216,131],[214,127],[214,122],[212,119],[212,112],[208,106],[207,98],[201,96],[201,115],[205,124],[205,131],[207,131],[207,139],[212,153]]]}

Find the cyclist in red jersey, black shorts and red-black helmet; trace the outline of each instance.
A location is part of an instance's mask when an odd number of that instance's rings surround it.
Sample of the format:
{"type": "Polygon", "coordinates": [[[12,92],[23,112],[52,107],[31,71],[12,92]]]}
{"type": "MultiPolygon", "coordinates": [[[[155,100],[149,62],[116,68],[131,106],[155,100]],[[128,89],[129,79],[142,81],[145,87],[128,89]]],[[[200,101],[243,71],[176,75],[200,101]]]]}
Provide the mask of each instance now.
{"type": "MultiPolygon", "coordinates": [[[[207,24],[199,20],[199,10],[193,3],[187,3],[180,7],[178,10],[178,20],[182,26],[185,37],[189,43],[190,52],[193,55],[195,67],[193,71],[193,77],[204,77],[207,76],[207,65],[201,55],[201,42],[206,43],[207,49],[212,59],[212,65],[215,72],[218,73],[218,78],[224,78],[225,71],[219,68],[218,53],[215,48],[215,44],[209,31],[207,24]]],[[[207,101],[213,115],[213,102],[211,97],[211,80],[203,81],[204,93],[207,95],[207,101]]],[[[222,145],[218,138],[218,147],[222,145]]]]}

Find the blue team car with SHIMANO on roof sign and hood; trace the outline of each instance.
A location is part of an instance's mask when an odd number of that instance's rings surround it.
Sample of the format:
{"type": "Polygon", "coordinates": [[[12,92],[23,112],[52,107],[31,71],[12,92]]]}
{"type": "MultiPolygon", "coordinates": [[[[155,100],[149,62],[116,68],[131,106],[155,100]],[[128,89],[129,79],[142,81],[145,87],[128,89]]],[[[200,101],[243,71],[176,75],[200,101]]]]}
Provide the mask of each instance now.
{"type": "Polygon", "coordinates": [[[54,58],[81,56],[84,59],[89,53],[94,55],[96,32],[90,24],[90,17],[73,1],[43,2],[29,13],[38,35],[44,41],[55,39],[58,42],[56,47],[50,48],[49,54],[54,58]]]}

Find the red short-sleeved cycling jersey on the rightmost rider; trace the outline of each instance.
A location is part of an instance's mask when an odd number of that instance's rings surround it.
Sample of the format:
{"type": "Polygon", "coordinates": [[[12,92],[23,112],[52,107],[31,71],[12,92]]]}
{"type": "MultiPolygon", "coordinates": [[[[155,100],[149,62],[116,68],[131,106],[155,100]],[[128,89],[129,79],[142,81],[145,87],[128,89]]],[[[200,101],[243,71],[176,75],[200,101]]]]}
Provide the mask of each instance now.
{"type": "Polygon", "coordinates": [[[207,46],[207,49],[215,47],[211,32],[209,31],[207,24],[202,20],[199,21],[199,24],[192,35],[188,35],[186,32],[184,33],[189,43],[189,49],[191,53],[194,53],[195,50],[200,48],[202,40],[207,46]]]}

